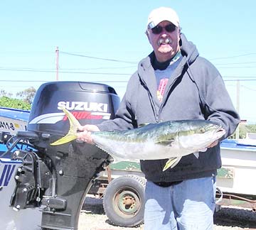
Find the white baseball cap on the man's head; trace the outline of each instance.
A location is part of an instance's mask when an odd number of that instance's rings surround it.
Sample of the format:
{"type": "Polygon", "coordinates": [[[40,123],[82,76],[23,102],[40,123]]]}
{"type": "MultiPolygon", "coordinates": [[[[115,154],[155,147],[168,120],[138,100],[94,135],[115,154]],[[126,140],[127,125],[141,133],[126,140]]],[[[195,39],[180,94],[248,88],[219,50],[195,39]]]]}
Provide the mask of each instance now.
{"type": "Polygon", "coordinates": [[[176,27],[179,27],[179,19],[177,13],[169,7],[159,7],[149,13],[146,29],[154,28],[159,23],[161,23],[161,21],[169,21],[176,27]]]}

